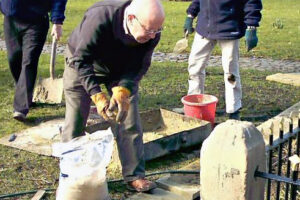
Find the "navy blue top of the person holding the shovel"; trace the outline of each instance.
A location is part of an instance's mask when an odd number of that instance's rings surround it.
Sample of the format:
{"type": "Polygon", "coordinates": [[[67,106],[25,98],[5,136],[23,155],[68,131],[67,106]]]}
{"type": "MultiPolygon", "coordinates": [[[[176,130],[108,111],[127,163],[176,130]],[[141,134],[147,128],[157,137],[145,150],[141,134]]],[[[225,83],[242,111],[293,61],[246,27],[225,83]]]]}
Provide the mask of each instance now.
{"type": "Polygon", "coordinates": [[[62,24],[67,0],[1,0],[1,12],[25,22],[41,21],[51,12],[51,21],[62,24]]]}

